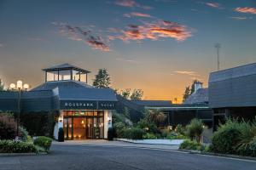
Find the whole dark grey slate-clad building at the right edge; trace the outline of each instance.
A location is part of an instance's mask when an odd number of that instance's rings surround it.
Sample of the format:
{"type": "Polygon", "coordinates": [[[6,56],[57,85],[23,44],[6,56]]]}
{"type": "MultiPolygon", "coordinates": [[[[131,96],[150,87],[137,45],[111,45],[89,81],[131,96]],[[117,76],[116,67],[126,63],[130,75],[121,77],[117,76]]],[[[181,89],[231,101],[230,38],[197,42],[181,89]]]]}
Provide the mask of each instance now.
{"type": "Polygon", "coordinates": [[[212,72],[208,87],[215,128],[228,117],[256,116],[256,63],[212,72]]]}

